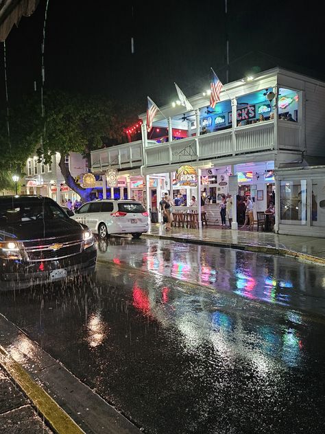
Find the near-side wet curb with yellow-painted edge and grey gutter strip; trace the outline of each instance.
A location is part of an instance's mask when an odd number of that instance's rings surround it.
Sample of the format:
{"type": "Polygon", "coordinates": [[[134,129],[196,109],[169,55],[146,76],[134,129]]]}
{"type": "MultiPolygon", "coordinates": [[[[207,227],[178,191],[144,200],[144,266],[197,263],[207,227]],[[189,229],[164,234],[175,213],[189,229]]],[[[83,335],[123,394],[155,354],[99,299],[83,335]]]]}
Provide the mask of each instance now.
{"type": "Polygon", "coordinates": [[[141,433],[2,314],[0,330],[0,366],[57,434],[141,433]]]}

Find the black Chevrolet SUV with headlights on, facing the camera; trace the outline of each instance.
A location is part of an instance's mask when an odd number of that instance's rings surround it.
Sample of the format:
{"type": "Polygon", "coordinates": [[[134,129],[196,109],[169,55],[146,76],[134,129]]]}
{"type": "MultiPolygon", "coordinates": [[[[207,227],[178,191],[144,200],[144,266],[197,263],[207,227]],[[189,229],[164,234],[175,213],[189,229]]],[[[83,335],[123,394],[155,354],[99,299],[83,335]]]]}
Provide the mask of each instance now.
{"type": "Polygon", "coordinates": [[[95,272],[93,234],[50,198],[0,197],[0,290],[95,272]]]}

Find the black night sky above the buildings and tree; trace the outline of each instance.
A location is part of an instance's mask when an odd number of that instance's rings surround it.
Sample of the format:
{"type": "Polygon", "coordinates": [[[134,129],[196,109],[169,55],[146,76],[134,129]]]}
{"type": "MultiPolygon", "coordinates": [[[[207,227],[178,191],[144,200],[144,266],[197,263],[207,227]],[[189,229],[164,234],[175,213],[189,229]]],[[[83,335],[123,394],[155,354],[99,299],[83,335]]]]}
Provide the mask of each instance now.
{"type": "MultiPolygon", "coordinates": [[[[32,91],[34,80],[40,83],[45,3],[40,0],[36,12],[23,17],[7,38],[12,101],[32,91]]],[[[146,95],[157,104],[167,104],[176,99],[173,82],[188,96],[206,89],[210,67],[225,82],[227,27],[230,81],[277,65],[325,78],[320,11],[300,8],[293,0],[228,0],[227,25],[224,4],[224,0],[49,0],[45,85],[100,93],[123,102],[125,111],[134,106],[145,111],[146,95]]],[[[3,104],[2,47],[0,68],[3,104]]]]}

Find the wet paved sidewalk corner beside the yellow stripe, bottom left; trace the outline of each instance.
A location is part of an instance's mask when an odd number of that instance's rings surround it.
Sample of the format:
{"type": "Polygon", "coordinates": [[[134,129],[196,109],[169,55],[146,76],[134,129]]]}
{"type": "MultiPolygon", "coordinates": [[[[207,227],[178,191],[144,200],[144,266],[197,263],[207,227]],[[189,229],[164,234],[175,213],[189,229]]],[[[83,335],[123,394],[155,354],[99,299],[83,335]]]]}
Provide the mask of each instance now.
{"type": "Polygon", "coordinates": [[[0,433],[50,434],[40,415],[0,368],[0,433]]]}

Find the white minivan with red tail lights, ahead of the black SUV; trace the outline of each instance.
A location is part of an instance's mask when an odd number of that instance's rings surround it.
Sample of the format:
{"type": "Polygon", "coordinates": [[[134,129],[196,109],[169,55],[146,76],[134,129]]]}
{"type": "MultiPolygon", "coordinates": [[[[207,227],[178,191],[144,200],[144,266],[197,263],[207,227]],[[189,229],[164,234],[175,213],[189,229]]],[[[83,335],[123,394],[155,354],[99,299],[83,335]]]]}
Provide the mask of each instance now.
{"type": "Polygon", "coordinates": [[[87,202],[71,218],[87,225],[101,239],[113,233],[131,233],[139,238],[149,229],[149,213],[136,201],[87,202]]]}

